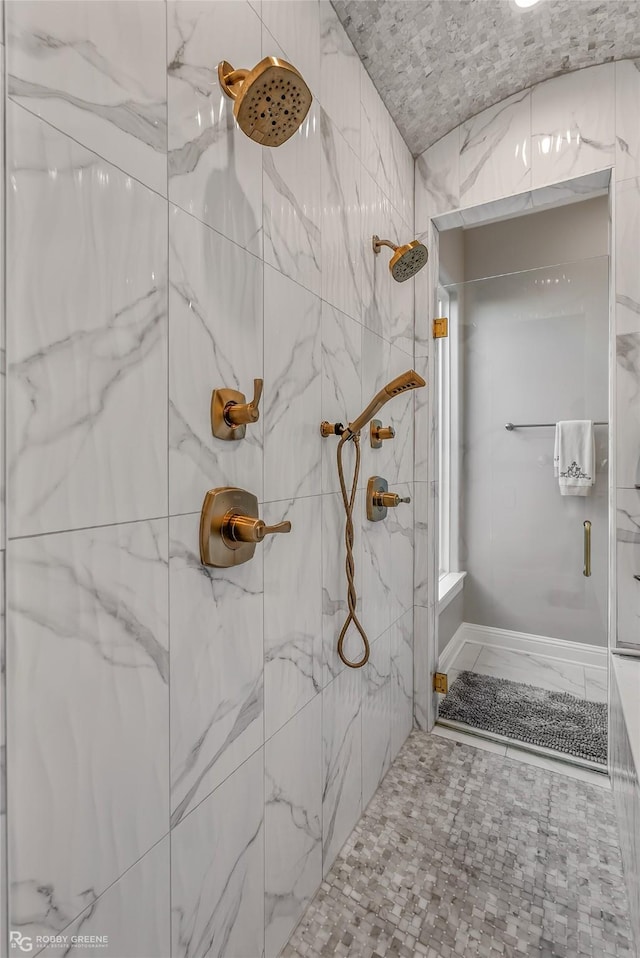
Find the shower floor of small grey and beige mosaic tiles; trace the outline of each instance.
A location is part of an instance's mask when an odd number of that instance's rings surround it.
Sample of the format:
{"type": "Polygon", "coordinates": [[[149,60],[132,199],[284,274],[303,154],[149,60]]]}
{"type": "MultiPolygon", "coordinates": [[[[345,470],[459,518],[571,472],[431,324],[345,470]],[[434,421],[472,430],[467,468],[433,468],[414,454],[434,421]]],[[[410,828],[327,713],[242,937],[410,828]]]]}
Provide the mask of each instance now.
{"type": "Polygon", "coordinates": [[[635,956],[610,790],[409,737],[282,955],[635,956]]]}

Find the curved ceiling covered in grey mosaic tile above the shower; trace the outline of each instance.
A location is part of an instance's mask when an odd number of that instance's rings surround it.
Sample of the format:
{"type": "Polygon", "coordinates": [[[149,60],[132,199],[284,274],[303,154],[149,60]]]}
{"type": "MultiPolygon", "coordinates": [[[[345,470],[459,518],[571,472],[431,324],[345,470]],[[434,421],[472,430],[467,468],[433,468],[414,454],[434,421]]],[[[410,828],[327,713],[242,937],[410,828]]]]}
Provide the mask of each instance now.
{"type": "Polygon", "coordinates": [[[638,0],[332,2],[414,155],[535,83],[640,57],[638,0]]]}

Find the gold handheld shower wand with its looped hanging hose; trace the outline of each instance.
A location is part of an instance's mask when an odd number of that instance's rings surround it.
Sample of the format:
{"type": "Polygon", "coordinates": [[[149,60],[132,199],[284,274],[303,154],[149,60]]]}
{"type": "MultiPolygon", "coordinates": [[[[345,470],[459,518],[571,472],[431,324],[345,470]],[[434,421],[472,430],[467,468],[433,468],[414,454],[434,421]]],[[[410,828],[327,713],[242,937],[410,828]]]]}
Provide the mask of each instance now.
{"type": "Polygon", "coordinates": [[[387,383],[387,385],[384,386],[380,392],[373,397],[369,405],[360,413],[358,418],[354,419],[353,422],[350,422],[345,429],[339,429],[337,425],[335,427],[330,426],[329,423],[323,423],[321,426],[323,436],[332,434],[340,435],[337,453],[338,478],[340,479],[340,491],[342,493],[342,502],[346,516],[344,538],[347,550],[345,570],[347,574],[347,606],[349,613],[338,637],[338,655],[344,664],[350,669],[361,669],[363,665],[366,665],[369,660],[370,651],[367,633],[365,632],[364,627],[358,619],[356,613],[358,595],[355,586],[355,562],[353,559],[353,508],[356,501],[356,493],[358,491],[358,477],[360,475],[360,432],[367,425],[367,423],[373,419],[375,414],[382,409],[384,404],[389,402],[390,399],[393,399],[394,396],[399,396],[400,393],[407,392],[409,389],[418,389],[421,386],[426,386],[426,382],[422,376],[419,376],[418,373],[415,372],[415,370],[410,369],[406,373],[402,373],[401,376],[397,376],[395,379],[392,379],[390,383],[387,383]],[[344,478],[342,450],[345,446],[345,443],[350,441],[353,442],[355,446],[356,462],[353,470],[351,492],[348,493],[344,478]],[[364,653],[362,658],[358,659],[357,662],[352,662],[350,659],[348,659],[343,650],[345,636],[352,622],[360,633],[362,642],[364,644],[364,653]]]}

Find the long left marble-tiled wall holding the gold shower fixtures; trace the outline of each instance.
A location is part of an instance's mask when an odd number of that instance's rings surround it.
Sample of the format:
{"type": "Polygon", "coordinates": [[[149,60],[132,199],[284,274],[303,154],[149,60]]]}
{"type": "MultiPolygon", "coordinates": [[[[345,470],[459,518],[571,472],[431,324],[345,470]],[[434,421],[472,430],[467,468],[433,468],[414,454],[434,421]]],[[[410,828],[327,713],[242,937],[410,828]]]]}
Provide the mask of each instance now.
{"type": "Polygon", "coordinates": [[[372,526],[363,490],[413,496],[413,397],[362,443],[361,671],[319,423],[413,365],[412,284],[371,251],[413,236],[413,160],[325,0],[20,0],[7,60],[12,927],[275,956],[411,728],[413,505],[372,526]],[[216,69],[267,54],[314,94],[277,150],[216,69]],[[215,440],[212,388],[254,378],[260,421],[215,440]],[[293,528],[207,569],[224,485],[293,528]]]}

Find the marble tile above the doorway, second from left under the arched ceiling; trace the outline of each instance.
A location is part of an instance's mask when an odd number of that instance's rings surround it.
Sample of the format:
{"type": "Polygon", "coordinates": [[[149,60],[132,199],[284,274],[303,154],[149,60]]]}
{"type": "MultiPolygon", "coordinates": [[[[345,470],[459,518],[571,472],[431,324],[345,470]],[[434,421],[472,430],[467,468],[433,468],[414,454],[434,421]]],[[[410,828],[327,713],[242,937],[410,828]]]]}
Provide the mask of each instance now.
{"type": "Polygon", "coordinates": [[[460,206],[531,186],[531,92],[516,93],[460,127],[460,206]]]}

